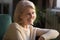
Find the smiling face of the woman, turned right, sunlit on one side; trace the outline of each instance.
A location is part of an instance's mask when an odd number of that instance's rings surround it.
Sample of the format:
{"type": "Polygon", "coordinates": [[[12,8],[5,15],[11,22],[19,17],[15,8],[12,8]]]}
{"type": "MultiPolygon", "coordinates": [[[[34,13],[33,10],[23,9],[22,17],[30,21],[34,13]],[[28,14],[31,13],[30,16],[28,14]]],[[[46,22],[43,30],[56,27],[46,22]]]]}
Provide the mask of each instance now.
{"type": "Polygon", "coordinates": [[[29,7],[25,8],[20,18],[22,19],[22,23],[25,25],[33,24],[34,20],[36,19],[35,9],[29,7]]]}

